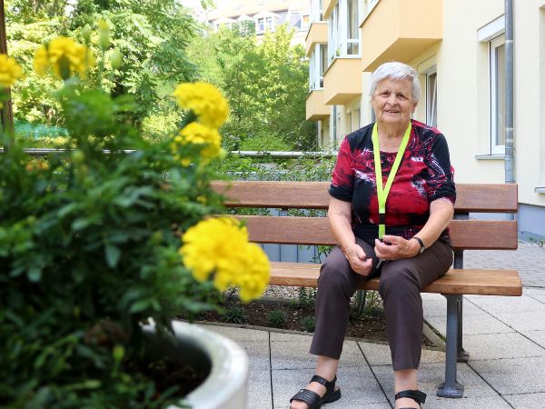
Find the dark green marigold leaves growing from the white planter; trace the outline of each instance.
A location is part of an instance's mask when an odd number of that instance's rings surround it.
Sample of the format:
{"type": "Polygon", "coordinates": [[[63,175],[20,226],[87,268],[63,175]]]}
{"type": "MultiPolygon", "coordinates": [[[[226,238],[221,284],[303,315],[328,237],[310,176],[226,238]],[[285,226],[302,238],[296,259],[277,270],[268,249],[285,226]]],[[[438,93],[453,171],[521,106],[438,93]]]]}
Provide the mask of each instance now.
{"type": "Polygon", "coordinates": [[[168,139],[144,139],[127,121],[130,97],[74,80],[50,95],[74,151],[0,155],[0,405],[166,406],[178,387],[136,370],[141,324],[165,333],[173,316],[213,308],[213,284],[196,282],[178,250],[221,211],[217,176],[194,149],[180,148],[194,164],[182,167],[168,139]]]}

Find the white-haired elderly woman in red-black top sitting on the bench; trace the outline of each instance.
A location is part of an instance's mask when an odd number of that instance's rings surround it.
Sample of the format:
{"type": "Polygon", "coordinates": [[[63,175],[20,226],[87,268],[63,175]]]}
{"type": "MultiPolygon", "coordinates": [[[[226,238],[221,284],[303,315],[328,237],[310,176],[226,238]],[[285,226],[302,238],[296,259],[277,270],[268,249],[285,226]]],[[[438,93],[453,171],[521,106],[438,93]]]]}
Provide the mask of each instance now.
{"type": "Polygon", "coordinates": [[[421,96],[411,66],[381,65],[370,94],[376,123],[344,138],[332,175],[328,218],[337,245],[318,282],[311,345],[316,371],[292,397],[292,409],[341,398],[335,382],[350,298],[375,275],[381,276],[395,407],[419,408],[426,398],[417,385],[421,289],[452,263],[448,225],[456,191],[449,148],[437,129],[411,120],[421,96]]]}

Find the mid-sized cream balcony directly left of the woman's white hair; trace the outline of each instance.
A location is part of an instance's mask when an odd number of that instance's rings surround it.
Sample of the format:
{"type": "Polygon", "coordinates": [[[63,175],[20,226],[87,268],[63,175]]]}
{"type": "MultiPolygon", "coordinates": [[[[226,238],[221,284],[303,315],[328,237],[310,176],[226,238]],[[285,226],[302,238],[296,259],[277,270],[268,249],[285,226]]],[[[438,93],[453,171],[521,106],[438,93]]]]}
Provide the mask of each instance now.
{"type": "Polygon", "coordinates": [[[323,102],[325,105],[345,105],[362,96],[362,60],[340,58],[323,74],[323,102]]]}

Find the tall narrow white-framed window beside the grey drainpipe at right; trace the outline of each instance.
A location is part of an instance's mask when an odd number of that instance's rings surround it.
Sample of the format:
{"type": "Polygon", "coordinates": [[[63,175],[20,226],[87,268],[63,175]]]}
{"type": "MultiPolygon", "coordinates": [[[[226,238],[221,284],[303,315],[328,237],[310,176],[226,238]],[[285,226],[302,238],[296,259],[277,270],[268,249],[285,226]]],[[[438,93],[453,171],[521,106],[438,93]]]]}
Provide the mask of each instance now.
{"type": "Polygon", "coordinates": [[[490,41],[490,154],[505,153],[505,36],[490,41]]]}

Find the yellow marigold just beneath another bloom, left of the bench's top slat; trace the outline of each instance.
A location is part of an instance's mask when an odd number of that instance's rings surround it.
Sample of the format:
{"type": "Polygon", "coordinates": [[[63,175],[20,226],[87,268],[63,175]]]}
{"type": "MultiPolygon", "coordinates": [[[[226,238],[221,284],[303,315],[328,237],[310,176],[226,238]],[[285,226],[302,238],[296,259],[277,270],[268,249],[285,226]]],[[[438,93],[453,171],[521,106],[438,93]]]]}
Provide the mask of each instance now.
{"type": "MultiPolygon", "coordinates": [[[[178,146],[189,144],[203,146],[201,157],[206,162],[220,154],[222,136],[217,129],[192,122],[173,137],[173,142],[170,145],[173,155],[177,155],[178,146]]],[[[182,158],[182,162],[189,165],[191,161],[188,158],[182,158]]]]}

